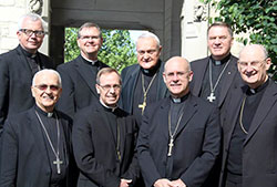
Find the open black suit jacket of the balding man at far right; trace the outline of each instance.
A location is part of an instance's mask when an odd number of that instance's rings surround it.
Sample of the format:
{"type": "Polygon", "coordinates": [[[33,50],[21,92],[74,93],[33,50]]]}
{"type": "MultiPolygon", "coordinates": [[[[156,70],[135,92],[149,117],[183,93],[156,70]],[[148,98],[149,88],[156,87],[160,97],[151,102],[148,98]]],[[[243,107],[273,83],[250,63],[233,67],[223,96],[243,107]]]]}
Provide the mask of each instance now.
{"type": "MultiPolygon", "coordinates": [[[[242,87],[234,90],[224,104],[223,167],[219,186],[224,186],[229,143],[244,97],[242,87]]],[[[243,145],[243,187],[277,186],[277,85],[271,80],[252,121],[243,145]]]]}

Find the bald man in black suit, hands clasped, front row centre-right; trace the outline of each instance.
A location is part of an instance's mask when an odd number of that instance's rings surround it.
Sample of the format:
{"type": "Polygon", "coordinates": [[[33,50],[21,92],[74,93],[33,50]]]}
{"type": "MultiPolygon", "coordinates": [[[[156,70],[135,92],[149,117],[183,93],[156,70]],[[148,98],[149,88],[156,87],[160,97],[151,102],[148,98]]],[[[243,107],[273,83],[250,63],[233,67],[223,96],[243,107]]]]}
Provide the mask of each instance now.
{"type": "Polygon", "coordinates": [[[163,76],[171,96],[146,107],[137,138],[141,172],[146,187],[199,187],[219,154],[219,112],[189,93],[185,59],[170,59],[163,76]]]}

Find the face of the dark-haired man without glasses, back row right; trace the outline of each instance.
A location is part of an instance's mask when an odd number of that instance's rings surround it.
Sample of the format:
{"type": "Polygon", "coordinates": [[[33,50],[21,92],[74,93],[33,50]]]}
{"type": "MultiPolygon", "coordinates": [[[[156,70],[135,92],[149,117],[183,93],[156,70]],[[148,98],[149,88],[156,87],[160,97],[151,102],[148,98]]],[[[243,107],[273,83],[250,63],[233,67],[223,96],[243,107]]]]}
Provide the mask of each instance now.
{"type": "Polygon", "coordinates": [[[228,28],[223,25],[212,27],[208,31],[208,49],[215,60],[223,60],[229,54],[233,37],[228,28]]]}

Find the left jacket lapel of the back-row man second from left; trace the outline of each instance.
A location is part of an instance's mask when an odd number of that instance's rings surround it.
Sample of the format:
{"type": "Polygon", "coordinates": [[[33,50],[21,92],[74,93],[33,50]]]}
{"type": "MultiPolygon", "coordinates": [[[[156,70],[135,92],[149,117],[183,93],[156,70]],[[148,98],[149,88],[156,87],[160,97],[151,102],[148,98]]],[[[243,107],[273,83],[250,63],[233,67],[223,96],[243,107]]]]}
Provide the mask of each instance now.
{"type": "Polygon", "coordinates": [[[98,96],[98,92],[95,89],[95,80],[96,80],[96,73],[94,71],[91,71],[89,64],[84,64],[83,59],[81,55],[75,61],[75,67],[76,71],[80,73],[80,75],[83,77],[84,82],[88,84],[92,93],[98,96]]]}

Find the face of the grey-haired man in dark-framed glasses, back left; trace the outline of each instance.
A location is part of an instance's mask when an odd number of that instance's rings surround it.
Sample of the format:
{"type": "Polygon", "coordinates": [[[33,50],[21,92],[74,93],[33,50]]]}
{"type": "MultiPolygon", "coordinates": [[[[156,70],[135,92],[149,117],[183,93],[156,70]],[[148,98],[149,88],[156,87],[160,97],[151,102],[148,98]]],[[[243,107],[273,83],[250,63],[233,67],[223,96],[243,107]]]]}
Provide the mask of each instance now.
{"type": "MultiPolygon", "coordinates": [[[[32,31],[43,31],[42,23],[40,20],[33,21],[31,18],[24,18],[21,28],[32,31]]],[[[44,35],[37,35],[32,33],[31,35],[25,34],[22,31],[17,32],[20,45],[30,53],[35,53],[43,42],[44,35]]]]}

